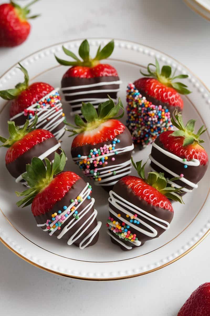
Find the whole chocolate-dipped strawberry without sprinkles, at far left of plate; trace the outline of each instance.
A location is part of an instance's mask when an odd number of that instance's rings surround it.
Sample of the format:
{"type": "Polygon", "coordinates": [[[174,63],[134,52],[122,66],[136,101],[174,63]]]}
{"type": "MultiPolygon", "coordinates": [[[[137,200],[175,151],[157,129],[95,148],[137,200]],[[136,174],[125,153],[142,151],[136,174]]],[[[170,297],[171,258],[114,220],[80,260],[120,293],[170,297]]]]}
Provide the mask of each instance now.
{"type": "MultiPolygon", "coordinates": [[[[8,121],[10,137],[0,136],[2,146],[9,147],[5,156],[5,163],[9,173],[16,178],[16,182],[23,182],[22,173],[26,171],[26,164],[31,163],[34,156],[54,159],[54,152],[60,153],[60,143],[54,135],[43,129],[36,129],[37,115],[31,125],[26,120],[23,128],[15,126],[13,121],[8,121]]],[[[25,184],[25,183],[24,183],[25,184]]]]}

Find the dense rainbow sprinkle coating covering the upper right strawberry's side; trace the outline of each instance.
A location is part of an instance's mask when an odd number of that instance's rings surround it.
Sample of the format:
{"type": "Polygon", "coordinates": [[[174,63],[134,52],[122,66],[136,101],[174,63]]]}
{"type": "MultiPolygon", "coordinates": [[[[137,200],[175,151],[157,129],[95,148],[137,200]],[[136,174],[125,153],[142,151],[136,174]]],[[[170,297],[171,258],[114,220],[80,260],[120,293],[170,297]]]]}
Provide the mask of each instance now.
{"type": "Polygon", "coordinates": [[[170,112],[161,105],[155,106],[139,93],[133,83],[127,87],[127,127],[133,143],[146,147],[163,131],[172,129],[170,112]]]}

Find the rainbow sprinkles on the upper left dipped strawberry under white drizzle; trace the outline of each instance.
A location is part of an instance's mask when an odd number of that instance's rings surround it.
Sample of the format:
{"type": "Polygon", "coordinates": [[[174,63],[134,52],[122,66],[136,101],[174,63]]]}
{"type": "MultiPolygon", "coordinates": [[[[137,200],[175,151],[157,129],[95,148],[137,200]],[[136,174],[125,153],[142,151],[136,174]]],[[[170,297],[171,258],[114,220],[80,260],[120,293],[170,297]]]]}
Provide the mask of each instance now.
{"type": "MultiPolygon", "coordinates": [[[[55,111],[59,111],[59,108],[56,107],[56,105],[58,105],[60,103],[61,97],[60,94],[55,91],[53,94],[48,95],[46,98],[43,98],[41,100],[39,100],[37,102],[37,106],[35,107],[35,109],[37,110],[30,110],[30,109],[25,109],[24,110],[24,115],[28,116],[29,115],[29,119],[32,119],[32,117],[38,113],[38,111],[40,111],[40,108],[45,108],[45,106],[50,106],[50,108],[54,107],[55,111]]],[[[62,114],[63,116],[65,116],[65,114],[62,114]]]]}

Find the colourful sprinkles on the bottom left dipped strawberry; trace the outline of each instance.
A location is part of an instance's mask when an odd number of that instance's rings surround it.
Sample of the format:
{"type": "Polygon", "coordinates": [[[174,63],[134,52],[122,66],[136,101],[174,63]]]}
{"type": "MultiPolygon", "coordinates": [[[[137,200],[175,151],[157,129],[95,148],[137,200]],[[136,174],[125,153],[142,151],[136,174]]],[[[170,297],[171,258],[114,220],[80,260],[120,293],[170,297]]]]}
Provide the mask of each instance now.
{"type": "MultiPolygon", "coordinates": [[[[88,185],[88,189],[91,189],[90,193],[92,193],[92,187],[91,185],[88,185]]],[[[88,195],[88,199],[91,197],[88,195]]],[[[83,201],[83,198],[80,196],[77,196],[75,199],[70,200],[70,206],[67,207],[66,205],[63,206],[63,210],[59,210],[58,213],[53,213],[51,215],[51,219],[47,220],[46,225],[47,229],[50,231],[53,231],[55,228],[60,230],[61,225],[64,223],[64,220],[73,213],[73,217],[75,219],[79,219],[78,211],[76,210],[76,206],[79,203],[83,201]]]]}

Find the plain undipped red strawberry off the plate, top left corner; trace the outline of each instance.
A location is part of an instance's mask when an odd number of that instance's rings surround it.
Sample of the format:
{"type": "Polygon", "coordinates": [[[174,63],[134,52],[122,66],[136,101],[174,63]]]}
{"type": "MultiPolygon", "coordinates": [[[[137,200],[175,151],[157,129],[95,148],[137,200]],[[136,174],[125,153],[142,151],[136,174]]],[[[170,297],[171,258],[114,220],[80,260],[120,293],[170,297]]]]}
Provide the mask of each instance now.
{"type": "Polygon", "coordinates": [[[28,16],[29,6],[37,1],[32,1],[24,8],[13,1],[0,5],[0,46],[17,46],[26,40],[31,29],[27,19],[34,19],[39,16],[28,16]]]}

